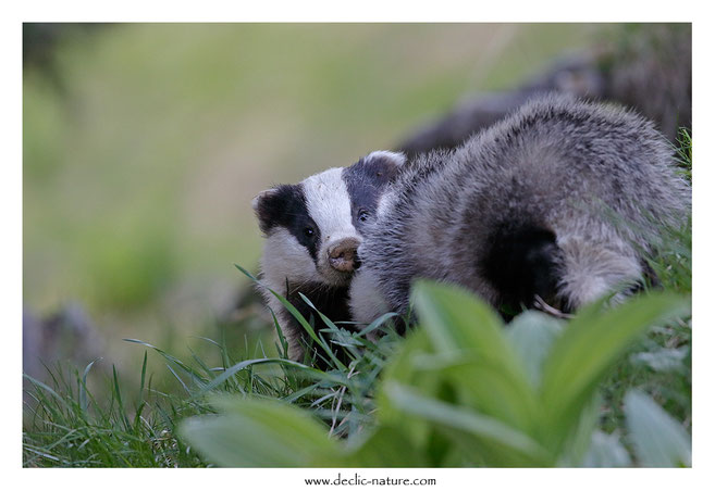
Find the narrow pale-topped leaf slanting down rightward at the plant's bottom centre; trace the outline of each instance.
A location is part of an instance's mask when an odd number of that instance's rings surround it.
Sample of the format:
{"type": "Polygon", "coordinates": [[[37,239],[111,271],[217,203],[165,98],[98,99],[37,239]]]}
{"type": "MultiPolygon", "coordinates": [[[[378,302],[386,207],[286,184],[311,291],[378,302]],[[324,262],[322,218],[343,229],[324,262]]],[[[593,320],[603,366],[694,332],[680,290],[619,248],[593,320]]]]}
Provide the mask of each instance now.
{"type": "Polygon", "coordinates": [[[491,449],[491,452],[473,455],[476,462],[483,461],[495,466],[543,466],[553,461],[538,442],[498,419],[420,395],[395,382],[389,383],[385,391],[396,407],[452,430],[448,435],[463,446],[474,451],[491,449]]]}

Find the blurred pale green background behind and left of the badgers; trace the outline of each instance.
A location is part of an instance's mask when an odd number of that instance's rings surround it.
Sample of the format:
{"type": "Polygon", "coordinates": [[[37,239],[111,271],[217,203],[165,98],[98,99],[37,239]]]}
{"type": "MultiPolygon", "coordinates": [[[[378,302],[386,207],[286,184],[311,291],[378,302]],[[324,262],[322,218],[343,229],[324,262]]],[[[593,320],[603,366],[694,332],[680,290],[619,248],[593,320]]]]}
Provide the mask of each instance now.
{"type": "MultiPolygon", "coordinates": [[[[143,354],[121,338],[220,336],[247,285],[233,263],[255,270],[260,255],[255,194],[393,148],[612,29],[54,25],[45,39],[26,25],[25,307],[77,302],[120,365],[143,354]]],[[[244,327],[224,335],[241,344],[244,327]]]]}

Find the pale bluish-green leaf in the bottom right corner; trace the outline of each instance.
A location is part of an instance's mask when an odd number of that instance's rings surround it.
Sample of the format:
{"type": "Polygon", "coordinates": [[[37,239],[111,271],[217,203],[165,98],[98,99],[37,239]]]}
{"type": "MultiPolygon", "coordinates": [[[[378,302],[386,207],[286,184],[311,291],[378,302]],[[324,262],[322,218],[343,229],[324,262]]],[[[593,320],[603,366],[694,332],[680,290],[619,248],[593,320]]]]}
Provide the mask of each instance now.
{"type": "Polygon", "coordinates": [[[638,390],[626,394],[624,412],[629,437],[644,467],[690,467],[688,432],[651,398],[638,390]]]}

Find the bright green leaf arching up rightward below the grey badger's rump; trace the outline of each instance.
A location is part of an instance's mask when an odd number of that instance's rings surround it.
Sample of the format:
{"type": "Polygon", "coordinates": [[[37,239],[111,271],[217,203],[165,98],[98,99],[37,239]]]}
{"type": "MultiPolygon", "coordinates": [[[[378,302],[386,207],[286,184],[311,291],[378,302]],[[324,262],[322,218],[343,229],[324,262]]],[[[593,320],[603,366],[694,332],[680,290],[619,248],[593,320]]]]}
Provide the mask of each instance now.
{"type": "Polygon", "coordinates": [[[585,307],[554,342],[542,375],[542,401],[547,411],[543,441],[557,449],[576,425],[583,405],[618,356],[649,326],[688,310],[673,294],[649,294],[613,309],[585,307]]]}

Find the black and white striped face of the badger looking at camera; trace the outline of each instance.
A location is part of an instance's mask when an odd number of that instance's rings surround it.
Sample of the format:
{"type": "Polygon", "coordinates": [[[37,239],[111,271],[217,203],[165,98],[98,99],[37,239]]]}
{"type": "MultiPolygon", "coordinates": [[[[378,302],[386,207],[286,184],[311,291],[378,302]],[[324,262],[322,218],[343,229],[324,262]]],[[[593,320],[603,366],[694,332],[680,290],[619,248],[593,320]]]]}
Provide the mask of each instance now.
{"type": "Polygon", "coordinates": [[[268,189],[254,200],[266,235],[262,269],[272,285],[349,284],[359,267],[360,231],[405,158],[373,152],[349,167],[330,168],[297,185],[268,189]]]}

